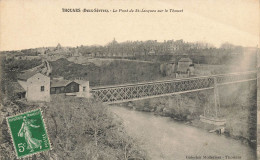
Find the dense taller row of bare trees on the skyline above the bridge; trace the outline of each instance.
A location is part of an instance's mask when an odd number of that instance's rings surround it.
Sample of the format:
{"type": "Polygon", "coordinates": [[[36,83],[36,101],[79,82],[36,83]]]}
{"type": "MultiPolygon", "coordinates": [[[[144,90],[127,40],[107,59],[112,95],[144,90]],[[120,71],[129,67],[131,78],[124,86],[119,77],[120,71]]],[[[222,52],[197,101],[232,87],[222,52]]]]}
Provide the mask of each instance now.
{"type": "Polygon", "coordinates": [[[157,42],[148,41],[126,41],[118,43],[116,40],[105,46],[80,46],[76,48],[84,55],[94,54],[95,56],[138,56],[138,55],[210,55],[210,53],[241,54],[243,48],[229,43],[224,43],[220,48],[216,48],[208,43],[184,42],[181,40],[167,40],[157,42]],[[209,52],[209,53],[208,53],[209,52]],[[224,53],[223,53],[224,52],[224,53]]]}

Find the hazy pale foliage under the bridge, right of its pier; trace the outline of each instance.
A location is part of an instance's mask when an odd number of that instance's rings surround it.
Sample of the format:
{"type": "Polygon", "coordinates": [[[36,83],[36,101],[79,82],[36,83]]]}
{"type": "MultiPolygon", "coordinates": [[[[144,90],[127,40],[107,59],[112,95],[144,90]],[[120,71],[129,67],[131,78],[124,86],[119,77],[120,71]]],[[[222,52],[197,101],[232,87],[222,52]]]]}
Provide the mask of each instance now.
{"type": "Polygon", "coordinates": [[[227,118],[227,130],[231,135],[256,140],[257,101],[256,83],[244,82],[236,86],[220,88],[222,114],[227,118]]]}

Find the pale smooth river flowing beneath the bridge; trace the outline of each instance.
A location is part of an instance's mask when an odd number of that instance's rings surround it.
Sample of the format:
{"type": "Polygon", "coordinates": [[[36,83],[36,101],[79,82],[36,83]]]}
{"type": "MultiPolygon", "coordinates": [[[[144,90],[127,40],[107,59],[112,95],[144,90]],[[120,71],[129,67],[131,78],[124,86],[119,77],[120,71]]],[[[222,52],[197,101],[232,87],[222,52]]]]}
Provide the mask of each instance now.
{"type": "Polygon", "coordinates": [[[111,106],[122,118],[128,134],[140,141],[152,160],[216,159],[255,160],[249,146],[225,136],[209,133],[168,117],[111,106]],[[190,156],[190,157],[189,157],[190,156]],[[197,158],[194,158],[196,157],[197,158]]]}

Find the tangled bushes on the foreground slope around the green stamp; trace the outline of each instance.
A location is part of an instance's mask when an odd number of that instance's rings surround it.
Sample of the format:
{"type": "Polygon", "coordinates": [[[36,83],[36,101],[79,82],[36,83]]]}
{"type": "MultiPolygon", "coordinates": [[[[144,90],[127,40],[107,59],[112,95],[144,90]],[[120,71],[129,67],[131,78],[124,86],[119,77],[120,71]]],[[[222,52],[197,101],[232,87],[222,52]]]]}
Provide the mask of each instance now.
{"type": "MultiPolygon", "coordinates": [[[[52,150],[35,159],[146,159],[146,153],[125,132],[121,120],[108,106],[75,97],[53,97],[50,103],[9,102],[1,110],[6,116],[41,107],[52,150]]],[[[2,123],[0,155],[14,158],[6,121],[2,123]]]]}

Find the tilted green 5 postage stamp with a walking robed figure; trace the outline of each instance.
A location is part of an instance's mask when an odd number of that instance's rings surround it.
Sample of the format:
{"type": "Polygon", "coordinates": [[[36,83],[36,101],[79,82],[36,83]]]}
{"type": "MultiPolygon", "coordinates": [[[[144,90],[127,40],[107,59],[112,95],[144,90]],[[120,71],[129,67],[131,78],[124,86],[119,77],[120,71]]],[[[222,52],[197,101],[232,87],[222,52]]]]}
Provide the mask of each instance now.
{"type": "Polygon", "coordinates": [[[7,117],[18,158],[51,149],[40,109],[7,117]]]}

